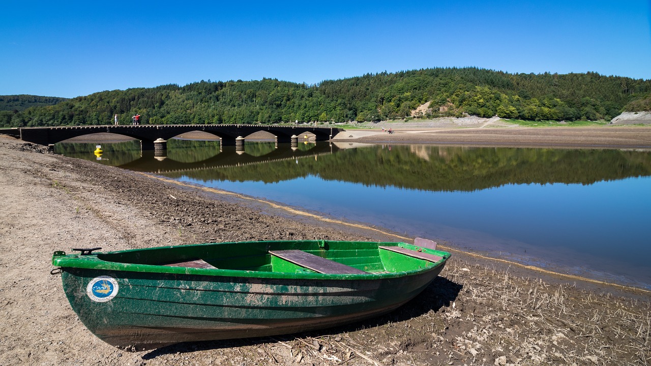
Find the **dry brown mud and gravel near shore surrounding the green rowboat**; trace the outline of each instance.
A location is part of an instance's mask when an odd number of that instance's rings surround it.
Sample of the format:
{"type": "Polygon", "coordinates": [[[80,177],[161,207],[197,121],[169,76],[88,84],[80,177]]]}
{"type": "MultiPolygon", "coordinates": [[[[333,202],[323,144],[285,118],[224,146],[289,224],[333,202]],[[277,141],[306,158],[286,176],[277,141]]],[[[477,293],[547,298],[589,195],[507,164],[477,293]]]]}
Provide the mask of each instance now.
{"type": "MultiPolygon", "coordinates": [[[[624,139],[651,135],[651,128],[631,132],[624,139]]],[[[613,141],[613,147],[620,146],[616,141],[622,137],[613,141]]],[[[646,143],[651,147],[651,139],[646,143]]],[[[94,337],[76,317],[61,277],[49,274],[53,251],[286,238],[402,239],[246,197],[47,154],[4,135],[0,185],[0,312],[5,319],[0,365],[651,362],[649,292],[545,274],[449,247],[445,249],[453,257],[441,276],[383,317],[298,335],[124,352],[94,337]]]]}

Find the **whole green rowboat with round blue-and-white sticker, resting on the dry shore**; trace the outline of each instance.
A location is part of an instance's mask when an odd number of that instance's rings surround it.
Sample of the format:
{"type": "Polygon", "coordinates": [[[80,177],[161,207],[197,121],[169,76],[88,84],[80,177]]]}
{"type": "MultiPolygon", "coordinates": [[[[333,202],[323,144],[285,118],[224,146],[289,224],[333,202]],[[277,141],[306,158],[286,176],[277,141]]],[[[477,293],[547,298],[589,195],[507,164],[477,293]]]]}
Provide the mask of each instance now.
{"type": "MultiPolygon", "coordinates": [[[[436,243],[294,240],[56,251],[66,296],[113,346],[262,337],[376,317],[424,290],[436,243]]],[[[53,272],[54,273],[54,272],[53,272]]]]}

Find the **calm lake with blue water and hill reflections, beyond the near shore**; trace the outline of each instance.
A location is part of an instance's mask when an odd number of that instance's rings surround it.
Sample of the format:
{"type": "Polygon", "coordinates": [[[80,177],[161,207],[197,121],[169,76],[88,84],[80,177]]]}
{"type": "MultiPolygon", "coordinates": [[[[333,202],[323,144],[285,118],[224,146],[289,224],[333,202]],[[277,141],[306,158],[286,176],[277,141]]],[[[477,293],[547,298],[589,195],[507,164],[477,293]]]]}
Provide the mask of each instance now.
{"type": "Polygon", "coordinates": [[[651,289],[651,152],[171,139],[55,152],[651,289]]]}

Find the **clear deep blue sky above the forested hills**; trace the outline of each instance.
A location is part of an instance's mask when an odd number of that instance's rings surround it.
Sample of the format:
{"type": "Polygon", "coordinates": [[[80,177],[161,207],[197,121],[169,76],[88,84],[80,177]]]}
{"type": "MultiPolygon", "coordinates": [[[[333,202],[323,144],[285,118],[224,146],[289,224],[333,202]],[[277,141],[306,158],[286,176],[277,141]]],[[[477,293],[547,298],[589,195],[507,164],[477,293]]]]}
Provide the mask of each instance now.
{"type": "Polygon", "coordinates": [[[7,1],[0,94],[445,66],[651,79],[651,1],[7,1]],[[7,4],[8,3],[8,4],[7,4]]]}

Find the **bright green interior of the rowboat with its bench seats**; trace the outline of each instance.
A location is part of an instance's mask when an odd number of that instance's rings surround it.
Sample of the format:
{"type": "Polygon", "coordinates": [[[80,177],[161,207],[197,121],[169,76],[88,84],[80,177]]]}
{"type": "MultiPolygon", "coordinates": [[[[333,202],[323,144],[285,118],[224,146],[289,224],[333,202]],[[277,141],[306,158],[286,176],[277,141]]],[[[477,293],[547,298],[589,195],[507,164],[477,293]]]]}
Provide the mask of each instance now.
{"type": "Polygon", "coordinates": [[[284,273],[382,274],[434,266],[447,253],[405,243],[271,241],[98,253],[109,262],[284,273]]]}

